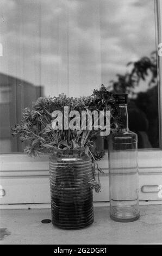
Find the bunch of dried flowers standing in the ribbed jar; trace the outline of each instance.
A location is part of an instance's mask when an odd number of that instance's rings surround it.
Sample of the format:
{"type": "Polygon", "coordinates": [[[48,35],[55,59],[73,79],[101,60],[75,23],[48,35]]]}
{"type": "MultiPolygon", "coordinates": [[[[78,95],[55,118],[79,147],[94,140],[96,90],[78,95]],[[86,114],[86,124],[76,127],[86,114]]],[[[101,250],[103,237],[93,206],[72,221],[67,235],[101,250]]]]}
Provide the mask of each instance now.
{"type": "MultiPolygon", "coordinates": [[[[76,110],[81,113],[83,110],[110,110],[112,125],[116,128],[116,105],[113,94],[108,91],[103,84],[98,90],[94,90],[91,96],[67,97],[60,94],[58,97],[39,97],[31,109],[25,108],[22,112],[20,124],[13,127],[13,135],[20,138],[21,142],[28,142],[24,152],[29,156],[38,156],[41,153],[52,153],[54,149],[77,149],[86,147],[86,154],[91,157],[93,170],[102,172],[97,164],[101,160],[104,151],[96,152],[95,138],[99,135],[99,130],[53,130],[52,112],[59,110],[64,113],[64,106],[68,106],[69,112],[76,110]]],[[[99,181],[92,185],[95,191],[101,189],[99,181]]]]}

